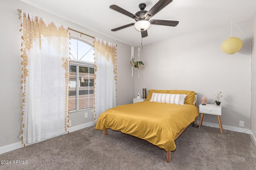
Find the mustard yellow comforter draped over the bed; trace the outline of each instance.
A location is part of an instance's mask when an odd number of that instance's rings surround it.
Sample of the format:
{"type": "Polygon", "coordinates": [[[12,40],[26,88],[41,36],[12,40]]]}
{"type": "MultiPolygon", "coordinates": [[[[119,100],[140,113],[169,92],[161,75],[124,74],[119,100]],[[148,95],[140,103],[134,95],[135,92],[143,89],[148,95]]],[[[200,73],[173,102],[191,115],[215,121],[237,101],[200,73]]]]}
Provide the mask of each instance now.
{"type": "Polygon", "coordinates": [[[96,129],[121,131],[144,139],[164,150],[175,150],[174,140],[184,127],[198,116],[196,106],[144,101],[108,109],[96,123],[96,129]]]}

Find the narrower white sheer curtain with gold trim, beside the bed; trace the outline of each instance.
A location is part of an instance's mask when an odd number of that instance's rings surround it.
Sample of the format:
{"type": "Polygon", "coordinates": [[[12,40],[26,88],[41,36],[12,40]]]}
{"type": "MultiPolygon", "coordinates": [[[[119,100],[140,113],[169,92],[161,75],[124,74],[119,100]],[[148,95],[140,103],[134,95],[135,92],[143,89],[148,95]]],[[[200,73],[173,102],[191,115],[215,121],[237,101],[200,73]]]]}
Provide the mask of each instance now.
{"type": "Polygon", "coordinates": [[[116,107],[116,45],[94,41],[94,123],[104,111],[116,107]]]}

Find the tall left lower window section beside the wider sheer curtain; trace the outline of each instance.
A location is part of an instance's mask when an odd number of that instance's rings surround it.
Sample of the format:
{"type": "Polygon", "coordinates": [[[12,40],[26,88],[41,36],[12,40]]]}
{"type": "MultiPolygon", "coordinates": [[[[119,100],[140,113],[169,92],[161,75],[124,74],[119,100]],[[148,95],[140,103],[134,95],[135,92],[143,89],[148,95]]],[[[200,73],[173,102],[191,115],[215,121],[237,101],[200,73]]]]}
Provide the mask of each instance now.
{"type": "Polygon", "coordinates": [[[76,66],[69,65],[70,88],[68,94],[68,110],[76,110],[76,66]]]}

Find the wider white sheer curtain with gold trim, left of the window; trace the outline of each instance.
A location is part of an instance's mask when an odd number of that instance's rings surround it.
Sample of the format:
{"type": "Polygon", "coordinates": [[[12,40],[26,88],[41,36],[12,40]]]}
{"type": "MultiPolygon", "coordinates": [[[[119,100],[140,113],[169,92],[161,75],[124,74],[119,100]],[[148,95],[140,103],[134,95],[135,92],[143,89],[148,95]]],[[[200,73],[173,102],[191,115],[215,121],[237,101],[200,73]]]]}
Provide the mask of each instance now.
{"type": "Polygon", "coordinates": [[[67,131],[68,28],[22,12],[22,141],[67,131]]]}

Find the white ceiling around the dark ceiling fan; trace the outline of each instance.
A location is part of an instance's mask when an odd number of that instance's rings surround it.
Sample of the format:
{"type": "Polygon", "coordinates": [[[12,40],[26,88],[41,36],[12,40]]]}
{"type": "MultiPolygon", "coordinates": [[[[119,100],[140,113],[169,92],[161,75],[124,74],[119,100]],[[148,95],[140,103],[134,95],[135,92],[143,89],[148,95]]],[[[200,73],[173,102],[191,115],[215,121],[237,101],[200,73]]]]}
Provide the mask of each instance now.
{"type": "MultiPolygon", "coordinates": [[[[42,10],[78,23],[84,27],[135,46],[140,45],[141,35],[131,26],[112,32],[113,28],[133,23],[134,20],[109,8],[116,4],[135,14],[138,5],[145,3],[149,10],[158,0],[22,0],[42,10]]],[[[256,0],[173,0],[152,19],[177,20],[176,27],[151,25],[143,44],[150,44],[193,32],[220,27],[231,19],[251,19],[256,10],[256,0]]],[[[67,25],[68,26],[68,25],[67,25]]]]}

